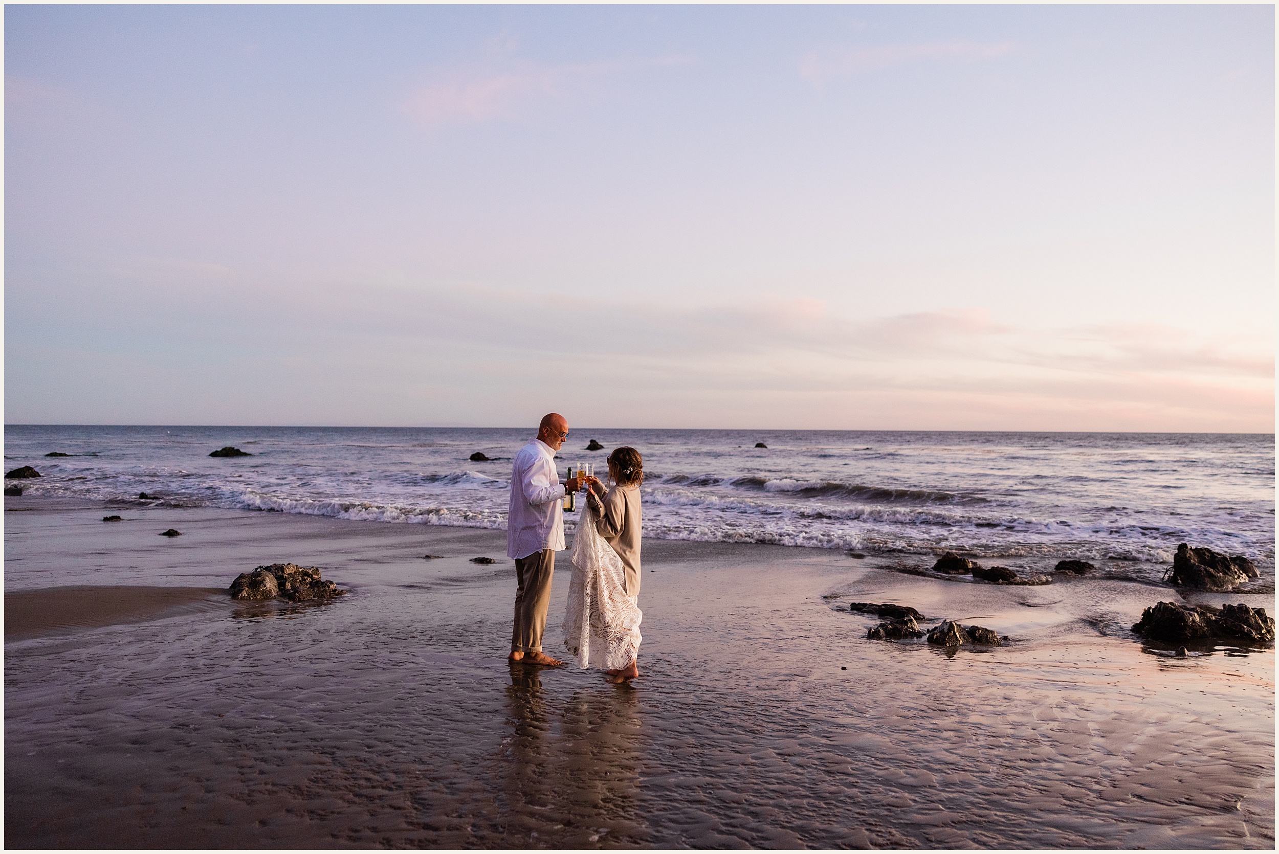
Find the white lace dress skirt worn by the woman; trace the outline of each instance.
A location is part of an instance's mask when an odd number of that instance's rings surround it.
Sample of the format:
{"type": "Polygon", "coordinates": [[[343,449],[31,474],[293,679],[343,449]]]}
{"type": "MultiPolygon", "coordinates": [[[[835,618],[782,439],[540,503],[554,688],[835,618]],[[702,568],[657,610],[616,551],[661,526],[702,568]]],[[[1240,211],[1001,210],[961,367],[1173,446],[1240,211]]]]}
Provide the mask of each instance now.
{"type": "Polygon", "coordinates": [[[564,610],[564,646],[582,670],[620,670],[640,655],[638,597],[625,593],[622,559],[595,529],[596,514],[587,501],[573,533],[573,582],[564,610]]]}

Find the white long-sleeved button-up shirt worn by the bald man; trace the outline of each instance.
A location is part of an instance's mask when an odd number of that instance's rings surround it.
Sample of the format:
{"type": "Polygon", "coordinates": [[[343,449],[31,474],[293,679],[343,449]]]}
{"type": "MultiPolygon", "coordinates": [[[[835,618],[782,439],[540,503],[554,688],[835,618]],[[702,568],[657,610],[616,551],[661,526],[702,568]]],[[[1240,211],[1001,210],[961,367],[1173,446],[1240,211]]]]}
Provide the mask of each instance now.
{"type": "Polygon", "coordinates": [[[528,557],[542,548],[564,548],[564,485],[555,468],[555,450],[535,439],[510,465],[510,511],[506,556],[528,557]]]}

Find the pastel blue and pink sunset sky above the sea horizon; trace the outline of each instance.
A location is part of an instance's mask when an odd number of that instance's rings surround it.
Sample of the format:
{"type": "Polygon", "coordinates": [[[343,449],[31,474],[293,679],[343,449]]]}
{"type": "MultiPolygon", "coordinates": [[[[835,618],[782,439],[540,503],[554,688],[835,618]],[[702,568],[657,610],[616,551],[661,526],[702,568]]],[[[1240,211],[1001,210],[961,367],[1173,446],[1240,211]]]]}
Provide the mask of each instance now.
{"type": "Polygon", "coordinates": [[[5,8],[6,423],[1274,430],[1274,8],[5,8]]]}

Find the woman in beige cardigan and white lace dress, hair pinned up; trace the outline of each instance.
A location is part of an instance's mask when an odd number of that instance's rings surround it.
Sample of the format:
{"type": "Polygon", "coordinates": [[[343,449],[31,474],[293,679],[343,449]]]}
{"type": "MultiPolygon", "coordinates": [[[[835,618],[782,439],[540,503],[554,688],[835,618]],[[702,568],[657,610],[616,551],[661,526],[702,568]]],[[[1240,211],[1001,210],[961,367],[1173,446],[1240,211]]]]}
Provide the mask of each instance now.
{"type": "Polygon", "coordinates": [[[623,683],[640,675],[640,483],[643,459],[633,447],[609,454],[605,491],[588,478],[586,508],[573,534],[573,582],[564,612],[564,643],[586,669],[623,683]]]}

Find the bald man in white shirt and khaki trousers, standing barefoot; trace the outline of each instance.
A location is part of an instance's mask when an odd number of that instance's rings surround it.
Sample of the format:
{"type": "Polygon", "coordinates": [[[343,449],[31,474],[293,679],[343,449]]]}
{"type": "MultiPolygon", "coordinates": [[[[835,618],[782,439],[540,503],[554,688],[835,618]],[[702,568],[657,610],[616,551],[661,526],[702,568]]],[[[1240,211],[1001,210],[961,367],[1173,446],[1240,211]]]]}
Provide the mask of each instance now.
{"type": "Polygon", "coordinates": [[[564,664],[542,652],[542,632],[551,601],[555,552],[564,548],[564,502],[582,488],[578,478],[559,482],[555,451],[568,439],[568,421],[559,413],[542,418],[537,439],[519,449],[510,467],[510,511],[506,555],[515,559],[515,626],[510,660],[554,667],[564,664]]]}

